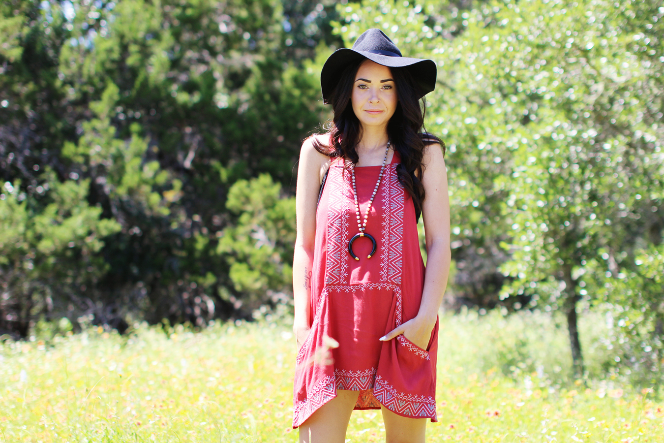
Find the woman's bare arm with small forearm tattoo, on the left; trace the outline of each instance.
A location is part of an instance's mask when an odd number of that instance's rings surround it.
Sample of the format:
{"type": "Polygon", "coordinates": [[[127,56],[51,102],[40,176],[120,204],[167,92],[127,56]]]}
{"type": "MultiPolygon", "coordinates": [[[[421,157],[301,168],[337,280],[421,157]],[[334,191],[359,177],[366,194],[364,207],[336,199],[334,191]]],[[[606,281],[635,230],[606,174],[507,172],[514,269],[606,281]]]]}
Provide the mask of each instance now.
{"type": "Polygon", "coordinates": [[[302,143],[297,167],[295,190],[295,252],[293,254],[293,299],[295,318],[293,332],[297,349],[311,326],[311,271],[316,235],[316,207],[321,179],[329,166],[329,157],[316,151],[310,139],[302,143]]]}

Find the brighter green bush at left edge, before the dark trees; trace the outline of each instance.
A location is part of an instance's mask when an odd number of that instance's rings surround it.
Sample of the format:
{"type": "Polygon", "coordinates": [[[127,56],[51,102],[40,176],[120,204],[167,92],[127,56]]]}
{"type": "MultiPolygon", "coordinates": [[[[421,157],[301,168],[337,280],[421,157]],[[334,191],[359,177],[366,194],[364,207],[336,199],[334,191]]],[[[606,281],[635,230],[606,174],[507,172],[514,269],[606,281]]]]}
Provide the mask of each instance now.
{"type": "Polygon", "coordinates": [[[39,197],[9,182],[0,194],[0,308],[18,305],[0,319],[5,331],[27,334],[33,313],[46,307],[62,315],[73,294],[94,288],[108,266],[98,255],[102,239],[120,230],[118,222],[100,219],[102,210],[86,203],[87,180],[51,178],[37,187],[39,197]]]}

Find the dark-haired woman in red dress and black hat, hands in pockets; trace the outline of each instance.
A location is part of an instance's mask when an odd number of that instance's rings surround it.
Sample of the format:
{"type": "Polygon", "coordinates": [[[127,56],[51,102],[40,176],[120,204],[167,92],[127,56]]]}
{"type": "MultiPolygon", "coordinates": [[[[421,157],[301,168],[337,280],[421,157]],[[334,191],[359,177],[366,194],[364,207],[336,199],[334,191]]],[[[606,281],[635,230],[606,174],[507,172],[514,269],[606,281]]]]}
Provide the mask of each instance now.
{"type": "Polygon", "coordinates": [[[353,409],[380,408],[387,442],[424,442],[426,418],[436,421],[450,209],[442,142],[422,132],[418,102],[435,82],[432,60],[402,57],[378,29],[321,71],[333,127],[304,141],[297,171],[300,442],[344,442],[353,409]]]}

